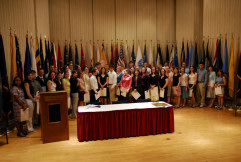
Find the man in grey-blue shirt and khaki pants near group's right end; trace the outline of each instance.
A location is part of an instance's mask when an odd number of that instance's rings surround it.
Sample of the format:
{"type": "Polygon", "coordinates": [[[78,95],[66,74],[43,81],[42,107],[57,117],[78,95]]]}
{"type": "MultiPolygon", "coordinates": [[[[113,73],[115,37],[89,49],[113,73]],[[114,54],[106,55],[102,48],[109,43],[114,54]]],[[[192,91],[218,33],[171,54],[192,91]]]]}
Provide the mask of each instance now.
{"type": "Polygon", "coordinates": [[[200,69],[197,70],[197,97],[198,103],[200,103],[200,107],[206,106],[205,104],[205,92],[208,83],[208,72],[204,69],[204,62],[199,64],[200,69]]]}

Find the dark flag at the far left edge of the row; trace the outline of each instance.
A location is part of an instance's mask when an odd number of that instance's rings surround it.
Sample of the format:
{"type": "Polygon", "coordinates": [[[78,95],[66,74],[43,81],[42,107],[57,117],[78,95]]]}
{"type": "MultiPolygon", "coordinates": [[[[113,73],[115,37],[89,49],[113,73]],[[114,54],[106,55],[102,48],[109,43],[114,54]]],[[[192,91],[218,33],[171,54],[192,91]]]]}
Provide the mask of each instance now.
{"type": "Polygon", "coordinates": [[[3,39],[1,34],[0,34],[0,72],[1,72],[0,79],[2,79],[1,81],[2,85],[9,87],[5,51],[4,51],[3,39]]]}

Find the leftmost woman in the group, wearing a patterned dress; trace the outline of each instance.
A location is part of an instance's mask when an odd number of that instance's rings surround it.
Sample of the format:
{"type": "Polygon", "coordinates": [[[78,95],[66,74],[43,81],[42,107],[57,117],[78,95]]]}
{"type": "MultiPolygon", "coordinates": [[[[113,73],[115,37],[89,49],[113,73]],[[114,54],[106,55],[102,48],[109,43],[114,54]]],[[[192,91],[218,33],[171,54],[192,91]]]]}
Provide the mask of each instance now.
{"type": "Polygon", "coordinates": [[[12,88],[12,95],[13,95],[13,112],[14,112],[14,120],[16,124],[16,128],[18,130],[17,136],[18,137],[25,137],[27,135],[27,131],[23,129],[23,122],[21,121],[21,109],[26,111],[27,109],[27,101],[24,97],[24,91],[21,88],[21,78],[15,77],[13,79],[13,88],[12,88]]]}

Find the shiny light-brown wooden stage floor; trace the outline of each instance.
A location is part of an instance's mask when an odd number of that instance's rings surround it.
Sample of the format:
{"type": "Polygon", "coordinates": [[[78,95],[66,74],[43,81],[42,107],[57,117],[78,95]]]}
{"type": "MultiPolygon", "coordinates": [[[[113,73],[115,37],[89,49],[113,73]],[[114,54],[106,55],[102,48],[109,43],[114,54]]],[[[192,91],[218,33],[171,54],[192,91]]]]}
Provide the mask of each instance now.
{"type": "Polygon", "coordinates": [[[174,110],[175,132],[79,142],[77,121],[70,140],[42,144],[41,130],[26,138],[0,137],[0,161],[240,161],[241,112],[210,108],[174,110]]]}

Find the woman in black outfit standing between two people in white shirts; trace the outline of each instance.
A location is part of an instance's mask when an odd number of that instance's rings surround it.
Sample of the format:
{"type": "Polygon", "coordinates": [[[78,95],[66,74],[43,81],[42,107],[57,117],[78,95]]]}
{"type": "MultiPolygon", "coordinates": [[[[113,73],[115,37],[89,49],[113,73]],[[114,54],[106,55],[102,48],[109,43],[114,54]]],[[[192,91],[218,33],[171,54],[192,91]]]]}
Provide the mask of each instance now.
{"type": "Polygon", "coordinates": [[[101,68],[100,74],[98,75],[98,83],[99,83],[99,89],[104,90],[105,88],[105,94],[106,96],[101,96],[100,101],[102,102],[103,105],[107,104],[107,98],[108,98],[108,90],[107,90],[107,85],[109,82],[109,77],[106,74],[106,70],[104,67],[101,68]]]}

